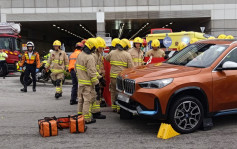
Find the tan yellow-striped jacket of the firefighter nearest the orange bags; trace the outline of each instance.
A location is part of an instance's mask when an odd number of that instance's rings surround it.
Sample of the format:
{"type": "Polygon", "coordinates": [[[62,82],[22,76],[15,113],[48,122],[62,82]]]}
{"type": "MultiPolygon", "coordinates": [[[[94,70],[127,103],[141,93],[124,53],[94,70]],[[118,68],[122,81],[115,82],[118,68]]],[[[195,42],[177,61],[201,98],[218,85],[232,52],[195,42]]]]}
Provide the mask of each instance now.
{"type": "Polygon", "coordinates": [[[95,59],[92,54],[82,51],[75,63],[79,86],[95,86],[99,83],[95,59]]]}

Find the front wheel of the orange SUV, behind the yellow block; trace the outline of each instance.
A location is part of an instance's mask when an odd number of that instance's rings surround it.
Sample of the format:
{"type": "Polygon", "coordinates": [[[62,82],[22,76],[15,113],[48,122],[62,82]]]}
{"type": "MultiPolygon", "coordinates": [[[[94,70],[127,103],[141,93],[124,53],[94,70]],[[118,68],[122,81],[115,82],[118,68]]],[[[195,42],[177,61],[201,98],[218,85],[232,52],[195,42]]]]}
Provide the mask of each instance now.
{"type": "Polygon", "coordinates": [[[201,102],[192,96],[183,96],[171,107],[169,120],[179,133],[192,133],[203,121],[204,110],[201,102]]]}

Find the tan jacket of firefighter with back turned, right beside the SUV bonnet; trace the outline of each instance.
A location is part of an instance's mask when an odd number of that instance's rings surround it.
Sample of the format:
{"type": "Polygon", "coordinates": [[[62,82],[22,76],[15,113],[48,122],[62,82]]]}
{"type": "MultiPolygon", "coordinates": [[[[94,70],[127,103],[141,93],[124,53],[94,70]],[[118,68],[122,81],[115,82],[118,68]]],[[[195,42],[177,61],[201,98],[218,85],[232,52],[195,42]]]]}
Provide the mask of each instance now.
{"type": "Polygon", "coordinates": [[[113,50],[105,57],[105,59],[111,64],[111,78],[116,78],[118,74],[126,68],[134,67],[132,57],[126,51],[120,51],[118,49],[113,50]]]}

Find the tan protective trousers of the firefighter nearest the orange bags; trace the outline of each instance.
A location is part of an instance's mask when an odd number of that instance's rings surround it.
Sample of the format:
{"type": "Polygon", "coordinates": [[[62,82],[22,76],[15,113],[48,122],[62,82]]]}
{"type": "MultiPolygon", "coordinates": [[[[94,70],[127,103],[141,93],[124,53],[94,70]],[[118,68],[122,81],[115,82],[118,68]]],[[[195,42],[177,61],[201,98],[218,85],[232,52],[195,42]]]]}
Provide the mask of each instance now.
{"type": "Polygon", "coordinates": [[[82,114],[86,122],[92,120],[91,108],[94,88],[89,85],[79,86],[78,89],[78,114],[82,114]]]}

